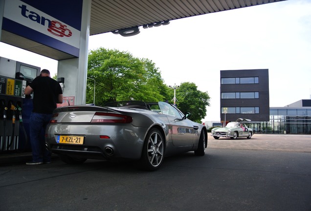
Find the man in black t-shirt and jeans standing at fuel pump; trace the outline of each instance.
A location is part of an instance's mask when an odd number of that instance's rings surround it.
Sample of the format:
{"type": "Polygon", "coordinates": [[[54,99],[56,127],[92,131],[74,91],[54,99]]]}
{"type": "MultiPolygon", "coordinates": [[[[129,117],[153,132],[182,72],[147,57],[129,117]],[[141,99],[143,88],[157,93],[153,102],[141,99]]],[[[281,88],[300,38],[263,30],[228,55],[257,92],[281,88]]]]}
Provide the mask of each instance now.
{"type": "Polygon", "coordinates": [[[41,71],[25,88],[25,94],[33,93],[33,110],[30,114],[30,143],[32,161],[27,165],[51,163],[51,153],[45,148],[44,131],[49,123],[57,103],[63,103],[63,91],[60,84],[50,77],[47,69],[41,71]]]}

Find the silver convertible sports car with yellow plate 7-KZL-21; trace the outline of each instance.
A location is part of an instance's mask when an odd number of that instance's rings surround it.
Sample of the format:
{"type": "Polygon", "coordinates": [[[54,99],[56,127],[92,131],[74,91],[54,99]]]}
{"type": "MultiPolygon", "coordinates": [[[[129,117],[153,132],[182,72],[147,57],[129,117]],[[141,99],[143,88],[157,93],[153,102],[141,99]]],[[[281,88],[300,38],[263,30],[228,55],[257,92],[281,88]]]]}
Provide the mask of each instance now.
{"type": "Polygon", "coordinates": [[[190,116],[164,102],[64,106],[54,110],[45,137],[51,152],[69,164],[122,158],[156,170],[165,156],[205,154],[206,127],[187,119],[190,116]]]}

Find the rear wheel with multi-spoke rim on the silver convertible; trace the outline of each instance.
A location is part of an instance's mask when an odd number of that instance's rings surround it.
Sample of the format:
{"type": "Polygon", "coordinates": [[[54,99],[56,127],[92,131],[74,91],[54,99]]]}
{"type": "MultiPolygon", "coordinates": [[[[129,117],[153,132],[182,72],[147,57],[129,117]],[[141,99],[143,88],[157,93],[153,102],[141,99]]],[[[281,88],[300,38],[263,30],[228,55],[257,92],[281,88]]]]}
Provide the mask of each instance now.
{"type": "Polygon", "coordinates": [[[154,171],[160,168],[164,159],[165,143],[161,132],[157,128],[151,129],[144,141],[141,153],[141,167],[154,171]]]}

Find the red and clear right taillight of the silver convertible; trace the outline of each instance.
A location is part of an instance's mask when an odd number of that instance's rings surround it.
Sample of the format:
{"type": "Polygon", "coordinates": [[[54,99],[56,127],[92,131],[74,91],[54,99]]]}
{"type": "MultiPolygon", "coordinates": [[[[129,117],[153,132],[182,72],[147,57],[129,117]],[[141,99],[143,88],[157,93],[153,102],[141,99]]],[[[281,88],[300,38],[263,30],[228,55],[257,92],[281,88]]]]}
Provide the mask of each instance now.
{"type": "Polygon", "coordinates": [[[131,123],[132,121],[133,118],[127,115],[96,112],[91,123],[131,123]]]}

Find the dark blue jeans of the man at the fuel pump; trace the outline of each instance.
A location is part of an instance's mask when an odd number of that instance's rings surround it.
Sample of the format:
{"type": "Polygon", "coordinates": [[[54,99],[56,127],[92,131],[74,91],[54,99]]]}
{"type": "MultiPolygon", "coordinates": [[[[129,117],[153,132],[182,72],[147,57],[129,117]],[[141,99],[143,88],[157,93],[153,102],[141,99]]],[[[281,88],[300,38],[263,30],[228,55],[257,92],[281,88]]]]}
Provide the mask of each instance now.
{"type": "Polygon", "coordinates": [[[51,153],[45,148],[44,133],[52,114],[34,113],[30,114],[30,144],[32,149],[32,160],[35,162],[50,162],[51,153]]]}

